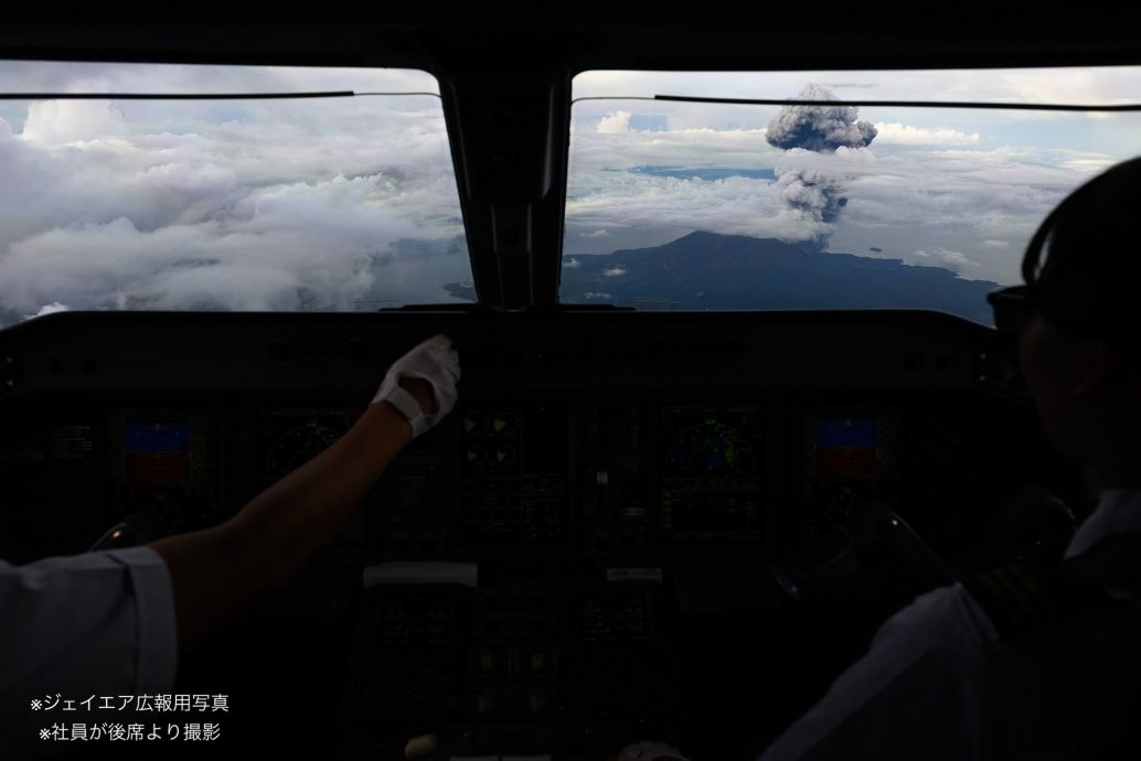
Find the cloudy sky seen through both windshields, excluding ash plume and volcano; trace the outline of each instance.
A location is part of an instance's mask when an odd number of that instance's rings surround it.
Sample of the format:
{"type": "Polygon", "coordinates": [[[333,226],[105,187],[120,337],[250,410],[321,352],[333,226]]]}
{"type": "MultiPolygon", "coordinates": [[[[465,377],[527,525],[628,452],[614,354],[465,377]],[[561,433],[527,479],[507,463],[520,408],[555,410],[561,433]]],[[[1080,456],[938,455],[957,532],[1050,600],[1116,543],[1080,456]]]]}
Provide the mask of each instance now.
{"type": "MultiPolygon", "coordinates": [[[[810,84],[850,99],[1115,104],[1141,91],[1141,67],[580,74],[564,264],[703,229],[1009,283],[1067,192],[1141,153],[1132,114],[867,106],[852,120],[871,141],[820,151],[769,141],[777,106],[631,99],[810,84]]],[[[0,325],[63,309],[445,302],[444,285],[471,280],[427,73],[0,62],[0,90],[428,94],[0,102],[0,325]]]]}

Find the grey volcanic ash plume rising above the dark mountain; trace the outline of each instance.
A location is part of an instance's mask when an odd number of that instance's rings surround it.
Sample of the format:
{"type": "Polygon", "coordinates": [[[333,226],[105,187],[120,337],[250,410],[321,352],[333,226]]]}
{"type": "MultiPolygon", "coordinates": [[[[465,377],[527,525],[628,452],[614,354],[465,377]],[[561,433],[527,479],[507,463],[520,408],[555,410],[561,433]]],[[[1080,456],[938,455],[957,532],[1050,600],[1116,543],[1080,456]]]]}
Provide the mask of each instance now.
{"type": "MultiPolygon", "coordinates": [[[[827,105],[835,100],[827,88],[806,84],[799,100],[822,100],[818,106],[785,106],[769,122],[766,139],[785,151],[801,148],[818,154],[832,154],[836,148],[863,148],[875,139],[871,122],[856,121],[855,106],[827,105]]],[[[778,169],[777,187],[790,209],[812,222],[817,233],[807,243],[823,251],[832,236],[832,222],[848,203],[840,180],[825,172],[802,168],[778,169]]]]}

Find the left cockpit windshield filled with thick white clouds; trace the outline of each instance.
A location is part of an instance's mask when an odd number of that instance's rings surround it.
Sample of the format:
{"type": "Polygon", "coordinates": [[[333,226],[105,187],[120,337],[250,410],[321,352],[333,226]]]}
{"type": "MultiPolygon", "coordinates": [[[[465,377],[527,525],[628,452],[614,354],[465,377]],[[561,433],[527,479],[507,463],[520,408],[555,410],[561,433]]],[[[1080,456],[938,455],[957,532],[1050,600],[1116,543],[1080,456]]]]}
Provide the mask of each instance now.
{"type": "Polygon", "coordinates": [[[424,72],[3,60],[0,94],[0,327],[372,311],[471,280],[424,72]]]}

